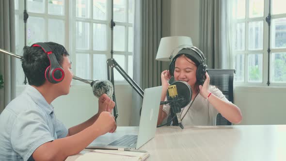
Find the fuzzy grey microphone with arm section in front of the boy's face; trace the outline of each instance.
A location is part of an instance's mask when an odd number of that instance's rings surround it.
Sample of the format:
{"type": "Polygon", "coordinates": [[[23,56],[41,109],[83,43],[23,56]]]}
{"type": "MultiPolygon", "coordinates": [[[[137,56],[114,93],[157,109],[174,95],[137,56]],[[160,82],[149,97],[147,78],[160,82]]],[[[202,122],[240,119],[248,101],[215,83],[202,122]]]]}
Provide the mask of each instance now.
{"type": "Polygon", "coordinates": [[[93,93],[95,95],[95,97],[99,98],[101,97],[103,94],[106,94],[108,97],[112,97],[113,95],[113,85],[111,83],[111,81],[108,80],[84,80],[81,79],[77,76],[73,77],[74,80],[77,81],[82,81],[84,83],[90,84],[90,86],[93,89],[93,93]]]}

